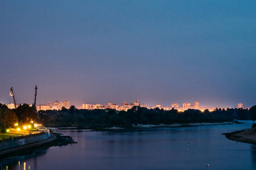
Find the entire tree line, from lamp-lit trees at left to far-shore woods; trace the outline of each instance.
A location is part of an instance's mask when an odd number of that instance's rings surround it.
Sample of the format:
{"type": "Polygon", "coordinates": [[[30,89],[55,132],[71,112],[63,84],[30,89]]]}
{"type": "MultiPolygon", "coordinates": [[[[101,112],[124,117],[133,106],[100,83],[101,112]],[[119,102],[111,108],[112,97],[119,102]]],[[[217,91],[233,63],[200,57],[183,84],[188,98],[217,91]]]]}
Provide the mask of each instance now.
{"type": "Polygon", "coordinates": [[[76,109],[71,106],[69,109],[39,111],[39,117],[34,109],[28,104],[19,105],[16,109],[9,109],[6,105],[0,104],[0,129],[5,131],[8,128],[15,128],[14,124],[20,126],[29,124],[31,121],[42,122],[46,125],[73,125],[80,128],[111,128],[113,126],[131,128],[138,124],[187,124],[197,122],[228,122],[234,119],[255,120],[256,105],[251,109],[217,109],[216,111],[204,112],[197,109],[188,109],[179,112],[176,109],[164,111],[163,109],[147,109],[133,107],[128,111],[116,111],[115,109],[76,109]]]}

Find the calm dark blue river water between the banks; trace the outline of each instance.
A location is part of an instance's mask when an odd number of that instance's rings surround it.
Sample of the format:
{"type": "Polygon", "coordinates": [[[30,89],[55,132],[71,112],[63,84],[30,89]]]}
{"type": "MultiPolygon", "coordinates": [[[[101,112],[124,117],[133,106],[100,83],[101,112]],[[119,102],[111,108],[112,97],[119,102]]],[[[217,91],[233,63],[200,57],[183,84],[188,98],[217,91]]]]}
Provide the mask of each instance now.
{"type": "Polygon", "coordinates": [[[251,121],[125,132],[62,129],[61,133],[71,135],[78,143],[2,159],[0,165],[1,169],[8,166],[20,170],[256,169],[256,146],[221,135],[250,127],[251,121]]]}

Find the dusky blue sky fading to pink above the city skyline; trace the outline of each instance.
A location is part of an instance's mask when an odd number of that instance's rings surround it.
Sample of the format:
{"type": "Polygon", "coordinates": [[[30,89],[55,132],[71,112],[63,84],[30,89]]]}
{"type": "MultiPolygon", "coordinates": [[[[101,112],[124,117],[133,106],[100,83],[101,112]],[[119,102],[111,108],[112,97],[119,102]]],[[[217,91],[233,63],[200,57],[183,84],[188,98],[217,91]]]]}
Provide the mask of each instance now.
{"type": "Polygon", "coordinates": [[[0,0],[0,103],[256,104],[256,1],[0,0]]]}

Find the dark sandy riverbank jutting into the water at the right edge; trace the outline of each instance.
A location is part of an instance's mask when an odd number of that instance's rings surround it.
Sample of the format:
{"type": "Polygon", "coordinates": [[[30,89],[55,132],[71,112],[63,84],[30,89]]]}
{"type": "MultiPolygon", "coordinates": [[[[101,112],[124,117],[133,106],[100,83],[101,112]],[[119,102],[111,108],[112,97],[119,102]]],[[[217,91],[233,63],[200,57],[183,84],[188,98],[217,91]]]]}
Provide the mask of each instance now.
{"type": "Polygon", "coordinates": [[[224,133],[224,135],[232,141],[256,145],[256,127],[247,130],[234,131],[232,133],[224,133]]]}

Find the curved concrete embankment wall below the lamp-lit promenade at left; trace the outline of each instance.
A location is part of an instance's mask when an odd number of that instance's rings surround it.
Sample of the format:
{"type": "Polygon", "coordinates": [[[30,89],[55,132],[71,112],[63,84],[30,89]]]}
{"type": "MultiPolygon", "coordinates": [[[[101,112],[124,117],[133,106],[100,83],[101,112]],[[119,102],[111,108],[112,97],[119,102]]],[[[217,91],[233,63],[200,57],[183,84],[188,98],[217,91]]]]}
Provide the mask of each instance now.
{"type": "Polygon", "coordinates": [[[43,145],[55,141],[54,135],[45,132],[32,135],[24,135],[0,141],[0,156],[11,154],[16,151],[43,145]]]}

